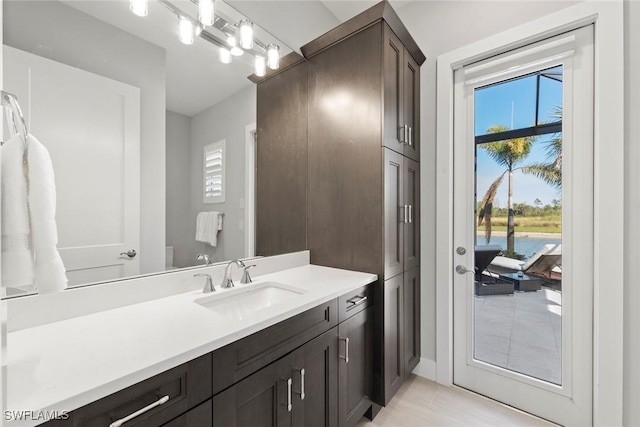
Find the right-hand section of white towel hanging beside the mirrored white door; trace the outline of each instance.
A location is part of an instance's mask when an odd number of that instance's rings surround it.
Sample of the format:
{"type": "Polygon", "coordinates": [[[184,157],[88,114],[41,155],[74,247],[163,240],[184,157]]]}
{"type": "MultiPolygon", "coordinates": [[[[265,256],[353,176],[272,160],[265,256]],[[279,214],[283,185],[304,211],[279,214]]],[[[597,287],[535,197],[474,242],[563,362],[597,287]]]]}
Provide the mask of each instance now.
{"type": "Polygon", "coordinates": [[[67,287],[67,275],[57,249],[58,227],[53,163],[47,148],[33,135],[28,137],[27,163],[36,288],[41,294],[58,292],[67,287]]]}

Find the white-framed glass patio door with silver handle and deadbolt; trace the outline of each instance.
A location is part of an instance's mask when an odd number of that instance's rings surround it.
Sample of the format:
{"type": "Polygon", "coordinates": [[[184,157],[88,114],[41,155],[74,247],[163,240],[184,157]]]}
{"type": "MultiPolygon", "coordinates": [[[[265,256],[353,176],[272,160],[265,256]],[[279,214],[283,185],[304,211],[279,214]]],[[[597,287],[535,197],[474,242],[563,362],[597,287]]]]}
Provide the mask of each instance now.
{"type": "Polygon", "coordinates": [[[593,28],[456,71],[454,383],[591,423],[593,28]]]}

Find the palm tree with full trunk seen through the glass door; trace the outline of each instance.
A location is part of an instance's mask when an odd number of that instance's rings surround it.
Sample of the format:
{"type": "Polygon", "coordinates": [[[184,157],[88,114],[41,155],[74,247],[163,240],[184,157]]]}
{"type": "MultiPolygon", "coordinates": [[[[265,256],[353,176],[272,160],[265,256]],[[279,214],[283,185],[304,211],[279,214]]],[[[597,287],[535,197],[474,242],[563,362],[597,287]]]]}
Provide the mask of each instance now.
{"type": "MultiPolygon", "coordinates": [[[[499,133],[508,131],[509,128],[502,125],[494,125],[487,129],[487,133],[499,133]]],[[[482,203],[480,204],[480,212],[478,213],[478,225],[485,222],[485,239],[487,243],[491,240],[491,210],[493,201],[496,198],[498,188],[502,184],[505,175],[508,175],[508,208],[507,217],[507,252],[513,254],[515,252],[515,220],[513,212],[513,172],[516,166],[521,163],[531,151],[531,146],[536,140],[535,136],[527,136],[522,138],[507,139],[504,141],[495,141],[481,145],[481,148],[487,152],[489,157],[495,160],[499,165],[504,166],[505,170],[491,184],[487,190],[482,203]]]]}

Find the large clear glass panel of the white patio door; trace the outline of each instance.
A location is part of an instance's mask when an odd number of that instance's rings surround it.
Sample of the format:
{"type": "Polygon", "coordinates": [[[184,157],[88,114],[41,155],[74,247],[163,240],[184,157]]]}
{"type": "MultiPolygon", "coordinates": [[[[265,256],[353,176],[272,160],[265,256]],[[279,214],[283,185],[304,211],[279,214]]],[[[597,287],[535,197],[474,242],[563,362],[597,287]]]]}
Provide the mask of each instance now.
{"type": "MultiPolygon", "coordinates": [[[[538,74],[477,89],[476,134],[532,126],[536,106],[539,121],[560,120],[562,69],[554,73],[540,75],[539,102],[538,74]]],[[[562,383],[561,159],[561,133],[476,145],[474,358],[554,384],[562,383]]]]}

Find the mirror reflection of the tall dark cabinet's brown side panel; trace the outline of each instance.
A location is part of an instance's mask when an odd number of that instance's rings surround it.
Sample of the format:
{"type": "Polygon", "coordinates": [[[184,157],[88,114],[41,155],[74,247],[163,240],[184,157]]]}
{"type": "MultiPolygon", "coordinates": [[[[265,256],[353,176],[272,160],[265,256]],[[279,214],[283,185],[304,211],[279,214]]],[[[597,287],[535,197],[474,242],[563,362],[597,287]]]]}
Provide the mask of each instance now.
{"type": "Polygon", "coordinates": [[[257,87],[256,254],[307,248],[307,68],[257,87]]]}

